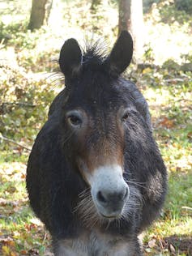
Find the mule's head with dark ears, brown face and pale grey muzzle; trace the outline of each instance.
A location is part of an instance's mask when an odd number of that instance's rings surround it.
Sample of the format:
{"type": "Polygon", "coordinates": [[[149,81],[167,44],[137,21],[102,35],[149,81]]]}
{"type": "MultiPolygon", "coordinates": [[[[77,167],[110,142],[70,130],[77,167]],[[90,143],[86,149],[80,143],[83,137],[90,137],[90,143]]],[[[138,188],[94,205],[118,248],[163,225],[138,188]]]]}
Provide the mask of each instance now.
{"type": "Polygon", "coordinates": [[[78,42],[69,39],[59,58],[66,77],[63,147],[90,187],[97,214],[105,218],[121,216],[130,194],[123,173],[126,122],[134,104],[119,76],[132,53],[131,36],[122,32],[109,56],[95,46],[82,54],[78,42]]]}

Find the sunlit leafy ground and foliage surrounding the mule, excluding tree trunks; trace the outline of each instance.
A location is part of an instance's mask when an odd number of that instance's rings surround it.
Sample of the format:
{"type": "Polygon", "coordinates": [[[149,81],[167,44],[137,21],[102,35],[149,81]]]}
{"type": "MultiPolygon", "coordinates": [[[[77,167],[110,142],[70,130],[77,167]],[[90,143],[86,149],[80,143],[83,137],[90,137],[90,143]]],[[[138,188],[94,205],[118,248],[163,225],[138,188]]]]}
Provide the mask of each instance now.
{"type": "MultiPolygon", "coordinates": [[[[50,255],[49,233],[28,206],[28,155],[64,87],[57,62],[63,41],[75,37],[83,46],[101,38],[110,49],[118,6],[53,0],[34,29],[31,1],[0,1],[0,255],[50,255]]],[[[144,254],[192,255],[192,0],[143,0],[142,19],[143,55],[125,76],[147,99],[169,170],[164,211],[143,235],[144,254]]]]}

